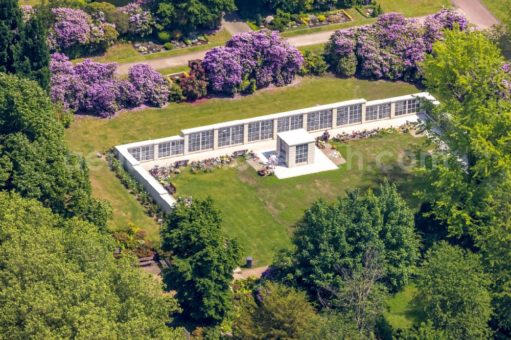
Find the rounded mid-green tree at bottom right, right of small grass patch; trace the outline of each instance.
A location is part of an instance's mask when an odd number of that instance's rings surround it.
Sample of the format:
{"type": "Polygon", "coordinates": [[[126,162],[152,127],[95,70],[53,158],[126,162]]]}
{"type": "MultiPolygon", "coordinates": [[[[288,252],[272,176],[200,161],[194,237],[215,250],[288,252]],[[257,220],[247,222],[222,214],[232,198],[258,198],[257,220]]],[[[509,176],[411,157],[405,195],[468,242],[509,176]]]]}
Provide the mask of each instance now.
{"type": "Polygon", "coordinates": [[[490,282],[479,255],[440,241],[426,253],[417,298],[435,328],[455,339],[489,338],[490,282]]]}

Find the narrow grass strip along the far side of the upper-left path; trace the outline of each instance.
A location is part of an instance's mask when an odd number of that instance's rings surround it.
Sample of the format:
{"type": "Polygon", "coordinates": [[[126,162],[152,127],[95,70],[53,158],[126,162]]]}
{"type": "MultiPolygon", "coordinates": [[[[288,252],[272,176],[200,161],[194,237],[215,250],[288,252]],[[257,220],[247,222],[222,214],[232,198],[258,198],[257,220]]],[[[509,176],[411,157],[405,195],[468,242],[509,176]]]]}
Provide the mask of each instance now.
{"type": "MultiPolygon", "coordinates": [[[[197,52],[197,51],[205,51],[205,50],[211,50],[211,48],[215,46],[223,46],[231,35],[227,30],[222,29],[218,31],[215,34],[208,35],[207,38],[210,41],[209,44],[205,45],[199,45],[199,46],[193,46],[193,47],[186,47],[186,48],[177,48],[176,50],[172,51],[166,51],[166,52],[159,52],[159,53],[153,53],[153,54],[146,54],[141,55],[140,53],[136,52],[135,48],[131,43],[123,43],[123,44],[117,44],[112,46],[104,55],[102,56],[96,56],[92,57],[91,59],[98,62],[118,62],[120,64],[132,62],[132,61],[143,61],[143,60],[149,60],[149,59],[156,59],[156,58],[162,58],[162,57],[168,57],[168,56],[175,56],[179,54],[185,54],[185,53],[191,53],[191,52],[197,52]]],[[[150,38],[149,38],[150,40],[150,38]]],[[[77,58],[72,60],[73,63],[81,62],[85,58],[77,58]]]]}

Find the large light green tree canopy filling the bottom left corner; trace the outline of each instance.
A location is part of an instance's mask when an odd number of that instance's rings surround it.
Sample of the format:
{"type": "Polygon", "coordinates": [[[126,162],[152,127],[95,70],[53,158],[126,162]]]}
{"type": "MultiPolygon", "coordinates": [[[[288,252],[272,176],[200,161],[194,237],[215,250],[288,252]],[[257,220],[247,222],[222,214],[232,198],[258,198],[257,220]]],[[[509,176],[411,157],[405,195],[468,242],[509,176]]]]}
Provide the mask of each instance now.
{"type": "Polygon", "coordinates": [[[114,259],[96,226],[0,192],[0,333],[6,338],[180,338],[161,284],[114,259]]]}

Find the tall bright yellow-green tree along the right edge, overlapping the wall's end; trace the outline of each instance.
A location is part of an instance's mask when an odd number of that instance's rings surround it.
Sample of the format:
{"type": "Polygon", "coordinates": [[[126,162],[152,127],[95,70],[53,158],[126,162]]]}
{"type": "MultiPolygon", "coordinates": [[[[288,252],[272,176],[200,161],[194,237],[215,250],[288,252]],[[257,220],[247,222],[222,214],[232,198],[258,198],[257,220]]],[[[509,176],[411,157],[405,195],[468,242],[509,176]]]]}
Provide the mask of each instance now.
{"type": "Polygon", "coordinates": [[[436,166],[416,170],[418,195],[449,236],[468,239],[482,255],[494,280],[497,324],[510,330],[511,74],[478,31],[446,32],[423,68],[428,90],[443,100],[425,125],[439,156],[436,166]]]}

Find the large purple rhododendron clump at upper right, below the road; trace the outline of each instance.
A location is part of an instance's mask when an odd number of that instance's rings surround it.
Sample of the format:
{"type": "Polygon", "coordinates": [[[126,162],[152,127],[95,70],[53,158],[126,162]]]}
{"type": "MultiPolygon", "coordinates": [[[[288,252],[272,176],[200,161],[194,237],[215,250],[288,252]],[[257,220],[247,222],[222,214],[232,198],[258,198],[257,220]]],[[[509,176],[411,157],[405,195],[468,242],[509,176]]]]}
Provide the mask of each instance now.
{"type": "Polygon", "coordinates": [[[360,74],[377,79],[419,80],[419,64],[431,52],[443,29],[468,28],[467,18],[450,9],[429,15],[424,24],[401,13],[386,13],[373,25],[336,31],[327,43],[327,59],[341,76],[360,74]],[[346,63],[355,63],[346,67],[346,63]]]}

